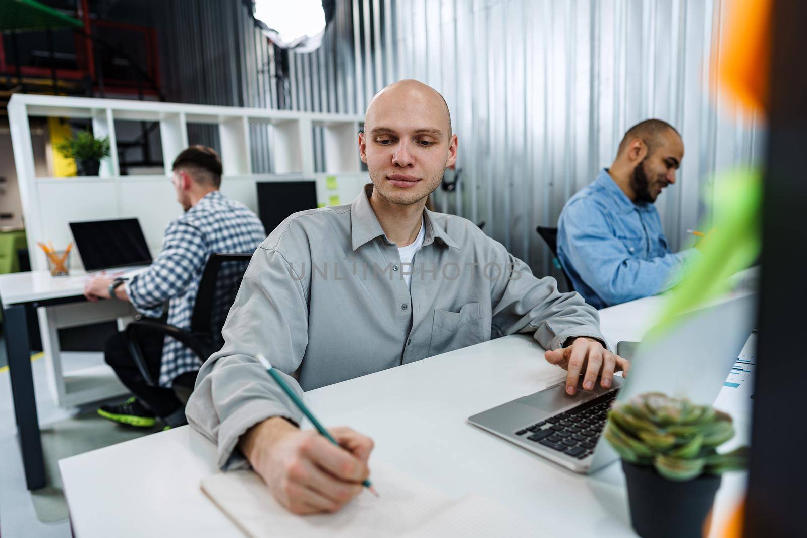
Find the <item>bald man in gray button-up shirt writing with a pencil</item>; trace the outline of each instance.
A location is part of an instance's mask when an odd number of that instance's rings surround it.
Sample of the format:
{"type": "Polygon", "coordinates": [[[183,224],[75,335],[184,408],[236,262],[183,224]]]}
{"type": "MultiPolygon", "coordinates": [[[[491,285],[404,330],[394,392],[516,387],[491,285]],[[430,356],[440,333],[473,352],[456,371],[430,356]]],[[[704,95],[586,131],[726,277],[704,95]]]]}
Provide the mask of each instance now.
{"type": "MultiPolygon", "coordinates": [[[[361,490],[372,440],[312,430],[256,360],[298,394],[499,336],[532,334],[546,360],[591,389],[628,361],[603,347],[596,310],[562,294],[466,219],[424,208],[458,140],[448,106],[418,81],[380,91],[359,152],[371,184],[346,206],[291,215],[257,249],[186,407],[218,444],[218,464],[251,464],[283,506],[336,511],[361,490]],[[414,251],[414,253],[412,253],[414,251]],[[404,263],[401,261],[412,260],[404,263]]],[[[416,398],[416,395],[413,395],[416,398]]]]}

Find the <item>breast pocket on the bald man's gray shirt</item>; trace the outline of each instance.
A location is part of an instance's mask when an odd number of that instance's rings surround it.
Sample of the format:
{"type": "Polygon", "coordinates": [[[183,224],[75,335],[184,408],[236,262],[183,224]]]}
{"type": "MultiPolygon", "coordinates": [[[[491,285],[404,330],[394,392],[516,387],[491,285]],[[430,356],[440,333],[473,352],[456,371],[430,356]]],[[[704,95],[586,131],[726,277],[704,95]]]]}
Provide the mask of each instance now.
{"type": "Polygon", "coordinates": [[[469,302],[460,311],[435,310],[429,357],[490,340],[491,316],[481,302],[469,302]]]}

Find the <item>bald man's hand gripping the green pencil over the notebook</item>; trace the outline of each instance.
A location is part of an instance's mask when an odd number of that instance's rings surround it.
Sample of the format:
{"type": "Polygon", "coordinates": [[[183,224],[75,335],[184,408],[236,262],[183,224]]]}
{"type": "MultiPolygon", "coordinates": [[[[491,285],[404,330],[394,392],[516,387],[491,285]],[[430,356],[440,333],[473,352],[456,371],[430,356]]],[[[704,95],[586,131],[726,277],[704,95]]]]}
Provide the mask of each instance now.
{"type": "Polygon", "coordinates": [[[328,432],[340,446],[315,430],[272,417],[251,427],[238,446],[278,502],[295,514],[334,512],[358,495],[370,476],[369,437],[349,427],[328,432]]]}

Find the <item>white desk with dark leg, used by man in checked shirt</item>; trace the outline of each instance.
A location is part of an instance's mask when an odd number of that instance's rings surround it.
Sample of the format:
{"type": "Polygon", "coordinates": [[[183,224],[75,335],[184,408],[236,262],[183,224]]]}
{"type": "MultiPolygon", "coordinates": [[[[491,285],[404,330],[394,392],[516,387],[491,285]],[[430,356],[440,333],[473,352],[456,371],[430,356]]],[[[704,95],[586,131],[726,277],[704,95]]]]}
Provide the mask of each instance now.
{"type": "Polygon", "coordinates": [[[53,398],[61,407],[127,394],[107,365],[65,371],[62,368],[58,330],[111,319],[129,319],[135,311],[128,302],[87,302],[86,273],[52,277],[48,271],[0,275],[0,302],[6,326],[11,392],[19,430],[20,449],[28,489],[45,485],[39,419],[36,414],[27,311],[36,309],[53,398]]]}

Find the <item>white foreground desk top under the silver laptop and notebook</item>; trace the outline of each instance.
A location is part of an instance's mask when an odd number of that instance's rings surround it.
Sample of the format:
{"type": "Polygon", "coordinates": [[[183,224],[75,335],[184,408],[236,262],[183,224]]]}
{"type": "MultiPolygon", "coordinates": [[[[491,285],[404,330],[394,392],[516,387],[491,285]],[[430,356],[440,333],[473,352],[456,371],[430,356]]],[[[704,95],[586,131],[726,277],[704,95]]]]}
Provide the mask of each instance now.
{"type": "MultiPolygon", "coordinates": [[[[658,306],[648,298],[601,311],[605,336],[639,340],[658,306]]],[[[585,477],[466,423],[563,377],[542,351],[532,338],[508,336],[312,390],[306,400],[326,425],[373,437],[374,458],[452,496],[495,498],[534,521],[536,536],[634,536],[618,464],[585,477]]],[[[199,490],[217,472],[215,446],[190,427],[70,457],[60,469],[77,538],[241,536],[199,490]]],[[[723,478],[717,520],[744,484],[743,473],[723,478]]]]}

